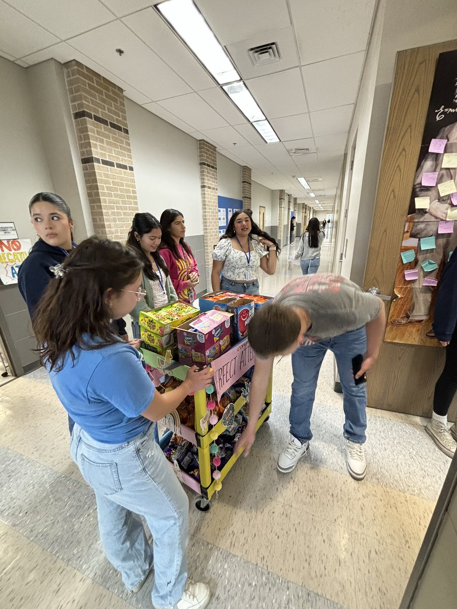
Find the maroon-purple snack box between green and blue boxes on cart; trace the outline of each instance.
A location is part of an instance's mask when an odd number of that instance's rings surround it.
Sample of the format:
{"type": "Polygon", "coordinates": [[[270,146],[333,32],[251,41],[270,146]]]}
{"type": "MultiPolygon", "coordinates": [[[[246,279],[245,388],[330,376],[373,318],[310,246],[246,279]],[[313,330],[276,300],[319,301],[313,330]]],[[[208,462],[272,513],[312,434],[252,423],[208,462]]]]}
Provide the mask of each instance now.
{"type": "Polygon", "coordinates": [[[176,329],[178,359],[182,364],[188,366],[210,364],[213,359],[230,349],[230,318],[232,316],[219,312],[218,317],[221,318],[221,321],[217,322],[216,317],[214,327],[207,331],[191,326],[191,323],[197,323],[206,316],[207,313],[199,315],[196,319],[185,322],[176,329]]]}

